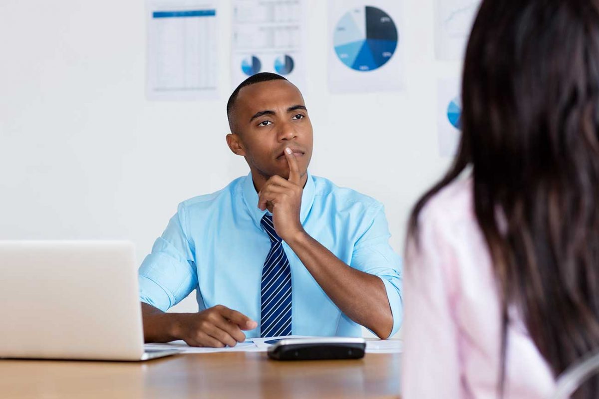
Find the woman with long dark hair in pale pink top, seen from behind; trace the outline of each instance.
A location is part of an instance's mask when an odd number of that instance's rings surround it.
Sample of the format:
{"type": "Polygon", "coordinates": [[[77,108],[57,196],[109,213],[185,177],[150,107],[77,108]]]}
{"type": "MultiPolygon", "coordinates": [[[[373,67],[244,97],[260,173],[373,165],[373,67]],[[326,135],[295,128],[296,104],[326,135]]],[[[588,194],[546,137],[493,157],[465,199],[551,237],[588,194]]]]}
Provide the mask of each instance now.
{"type": "Polygon", "coordinates": [[[462,82],[410,221],[403,397],[547,397],[599,348],[599,0],[484,0],[462,82]]]}

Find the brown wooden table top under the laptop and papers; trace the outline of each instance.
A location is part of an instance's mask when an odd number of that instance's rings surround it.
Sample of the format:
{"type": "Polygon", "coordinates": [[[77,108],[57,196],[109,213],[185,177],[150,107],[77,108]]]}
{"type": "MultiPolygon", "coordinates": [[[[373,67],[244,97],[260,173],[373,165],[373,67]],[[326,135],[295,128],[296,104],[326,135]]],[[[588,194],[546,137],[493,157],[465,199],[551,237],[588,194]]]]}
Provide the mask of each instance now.
{"type": "Polygon", "coordinates": [[[338,398],[400,393],[399,354],[273,361],[264,352],[185,354],[143,363],[1,360],[0,397],[338,398]]]}

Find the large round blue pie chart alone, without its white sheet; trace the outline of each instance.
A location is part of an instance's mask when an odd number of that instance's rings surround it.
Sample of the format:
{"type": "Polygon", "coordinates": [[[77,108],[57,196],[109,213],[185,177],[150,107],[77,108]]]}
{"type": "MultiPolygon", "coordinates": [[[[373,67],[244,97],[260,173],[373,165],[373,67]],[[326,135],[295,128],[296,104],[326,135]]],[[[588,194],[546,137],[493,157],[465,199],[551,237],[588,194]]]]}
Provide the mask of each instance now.
{"type": "Polygon", "coordinates": [[[334,33],[337,57],[349,68],[366,72],[385,65],[395,53],[398,33],[395,22],[377,7],[347,11],[334,33]]]}

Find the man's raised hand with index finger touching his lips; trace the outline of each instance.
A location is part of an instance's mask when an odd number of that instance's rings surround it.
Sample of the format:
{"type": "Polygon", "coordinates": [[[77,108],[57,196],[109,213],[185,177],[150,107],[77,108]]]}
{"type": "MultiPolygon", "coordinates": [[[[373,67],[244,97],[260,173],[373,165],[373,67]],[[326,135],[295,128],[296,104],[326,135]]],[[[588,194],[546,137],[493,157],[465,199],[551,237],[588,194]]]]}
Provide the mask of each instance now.
{"type": "Polygon", "coordinates": [[[258,208],[272,212],[274,230],[279,237],[288,241],[295,234],[304,231],[299,221],[304,190],[298,162],[290,148],[285,148],[285,158],[289,163],[289,179],[276,175],[268,179],[258,193],[258,208]]]}

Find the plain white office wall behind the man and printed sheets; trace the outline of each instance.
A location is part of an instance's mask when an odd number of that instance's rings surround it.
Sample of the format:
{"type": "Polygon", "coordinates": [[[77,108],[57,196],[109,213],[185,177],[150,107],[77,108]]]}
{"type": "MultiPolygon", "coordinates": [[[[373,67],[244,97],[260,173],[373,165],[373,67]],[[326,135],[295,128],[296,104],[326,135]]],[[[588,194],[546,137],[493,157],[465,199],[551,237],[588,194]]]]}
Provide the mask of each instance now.
{"type": "MultiPolygon", "coordinates": [[[[403,252],[410,207],[450,161],[435,91],[459,65],[434,61],[432,0],[405,0],[406,90],[330,95],[326,2],[308,4],[311,172],[383,202],[403,252]]],[[[145,29],[141,0],[0,1],[0,239],[131,239],[141,261],[181,200],[247,173],[225,143],[229,46],[220,100],[149,102],[145,29]]]]}

